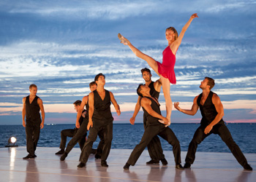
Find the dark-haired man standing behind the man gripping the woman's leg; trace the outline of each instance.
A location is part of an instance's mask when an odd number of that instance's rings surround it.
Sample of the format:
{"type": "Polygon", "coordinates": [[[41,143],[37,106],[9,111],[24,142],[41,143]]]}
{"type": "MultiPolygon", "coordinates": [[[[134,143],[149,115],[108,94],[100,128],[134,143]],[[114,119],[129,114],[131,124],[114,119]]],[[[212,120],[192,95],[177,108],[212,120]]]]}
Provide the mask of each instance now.
{"type": "MultiPolygon", "coordinates": [[[[150,88],[150,95],[153,98],[159,98],[159,93],[162,87],[162,82],[161,79],[157,79],[156,82],[152,82],[151,81],[151,71],[148,68],[143,68],[140,70],[143,79],[145,80],[145,85],[147,85],[150,88]]],[[[135,124],[135,117],[137,116],[138,112],[140,111],[140,100],[141,97],[138,96],[138,101],[136,103],[135,106],[135,111],[131,117],[131,119],[129,119],[129,122],[131,124],[135,124]]],[[[143,126],[144,129],[146,127],[146,116],[145,114],[143,114],[143,126]]],[[[152,165],[152,164],[159,164],[159,160],[161,160],[162,165],[167,165],[168,162],[165,159],[165,155],[163,154],[162,151],[162,146],[160,143],[160,140],[158,138],[158,136],[156,135],[154,138],[152,138],[152,141],[150,143],[148,143],[148,154],[151,158],[150,161],[146,162],[147,165],[152,165]]]]}

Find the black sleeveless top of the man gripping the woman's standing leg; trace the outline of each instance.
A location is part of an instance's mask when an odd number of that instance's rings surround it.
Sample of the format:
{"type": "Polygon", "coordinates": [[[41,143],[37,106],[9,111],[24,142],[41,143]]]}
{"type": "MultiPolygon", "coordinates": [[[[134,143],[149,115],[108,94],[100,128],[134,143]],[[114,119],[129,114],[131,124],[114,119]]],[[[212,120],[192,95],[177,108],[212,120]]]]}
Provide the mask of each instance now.
{"type": "MultiPolygon", "coordinates": [[[[145,97],[148,98],[148,97],[145,97]]],[[[156,111],[158,114],[161,114],[159,103],[157,103],[154,99],[148,98],[151,100],[151,108],[156,111]]],[[[143,107],[142,107],[143,108],[143,107]]],[[[144,115],[146,116],[146,125],[147,126],[156,126],[156,125],[162,125],[160,122],[158,122],[159,118],[151,116],[148,114],[145,108],[143,108],[144,115]]]]}

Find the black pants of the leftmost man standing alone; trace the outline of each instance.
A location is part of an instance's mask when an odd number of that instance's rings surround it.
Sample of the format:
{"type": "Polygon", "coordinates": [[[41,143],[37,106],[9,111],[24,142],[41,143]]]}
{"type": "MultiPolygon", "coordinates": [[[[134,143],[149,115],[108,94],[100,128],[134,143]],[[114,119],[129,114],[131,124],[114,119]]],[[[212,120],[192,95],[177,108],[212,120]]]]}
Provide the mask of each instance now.
{"type": "Polygon", "coordinates": [[[42,120],[40,118],[26,120],[26,151],[28,151],[32,156],[34,155],[34,151],[37,149],[41,122],[42,120]]]}

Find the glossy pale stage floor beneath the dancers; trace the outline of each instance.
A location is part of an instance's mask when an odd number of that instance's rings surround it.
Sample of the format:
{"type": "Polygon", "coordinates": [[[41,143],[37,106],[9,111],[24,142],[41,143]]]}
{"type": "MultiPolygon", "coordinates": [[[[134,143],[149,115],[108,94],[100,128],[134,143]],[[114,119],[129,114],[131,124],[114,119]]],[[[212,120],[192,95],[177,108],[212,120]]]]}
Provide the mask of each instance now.
{"type": "MultiPolygon", "coordinates": [[[[74,148],[64,162],[53,147],[38,147],[36,159],[23,159],[26,147],[0,148],[0,181],[256,181],[256,154],[245,154],[253,171],[244,170],[231,153],[197,152],[191,169],[176,170],[172,151],[165,151],[168,165],[146,165],[150,159],[144,151],[135,166],[123,170],[132,150],[111,149],[109,167],[101,167],[100,159],[91,154],[86,167],[79,168],[80,149],[74,148]]],[[[187,152],[181,152],[182,165],[187,152]]]]}

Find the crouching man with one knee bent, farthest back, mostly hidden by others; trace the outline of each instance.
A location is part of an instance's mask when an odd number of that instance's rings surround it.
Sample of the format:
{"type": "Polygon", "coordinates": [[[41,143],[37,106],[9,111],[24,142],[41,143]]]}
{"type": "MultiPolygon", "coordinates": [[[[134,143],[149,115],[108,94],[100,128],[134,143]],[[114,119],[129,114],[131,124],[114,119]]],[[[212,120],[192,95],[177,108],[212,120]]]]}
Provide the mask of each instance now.
{"type": "MultiPolygon", "coordinates": [[[[81,105],[81,100],[76,100],[74,104],[75,111],[78,112],[80,105],[81,105]]],[[[80,116],[79,123],[83,123],[83,119],[86,117],[86,109],[83,108],[83,113],[80,116]]],[[[78,132],[78,128],[75,127],[74,129],[67,129],[67,130],[61,130],[61,145],[59,146],[60,151],[56,152],[56,155],[59,154],[64,154],[65,147],[66,147],[66,142],[67,142],[67,137],[74,137],[76,132],[78,132]]],[[[83,135],[80,137],[80,140],[78,141],[80,149],[83,149],[83,144],[86,143],[86,134],[82,133],[83,135]]]]}

